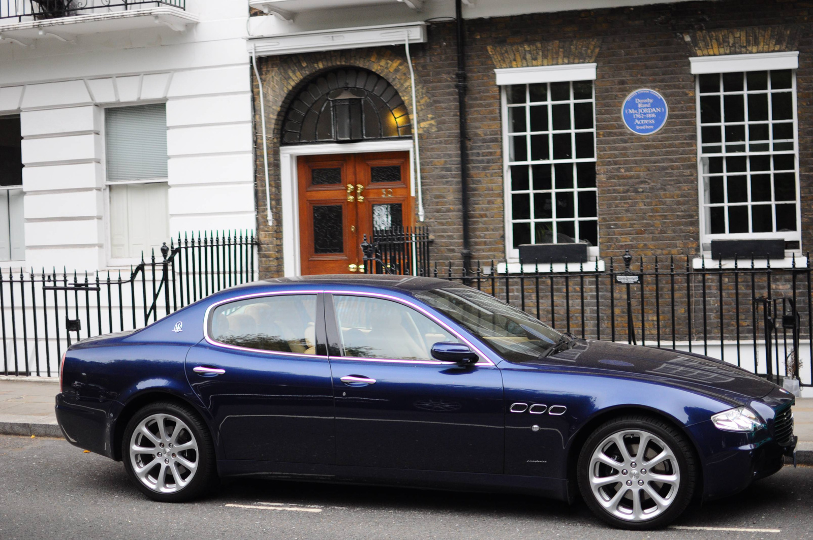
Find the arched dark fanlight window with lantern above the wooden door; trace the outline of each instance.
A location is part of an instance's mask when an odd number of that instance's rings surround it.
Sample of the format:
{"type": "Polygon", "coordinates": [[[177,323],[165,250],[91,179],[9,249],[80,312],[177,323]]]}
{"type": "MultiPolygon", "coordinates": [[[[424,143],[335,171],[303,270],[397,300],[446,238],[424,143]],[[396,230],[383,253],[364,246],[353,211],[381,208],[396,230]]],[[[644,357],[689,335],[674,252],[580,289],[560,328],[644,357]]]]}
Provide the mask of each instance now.
{"type": "Polygon", "coordinates": [[[282,144],[410,137],[398,90],[373,72],[337,69],[308,83],[285,116],[282,144]]]}

